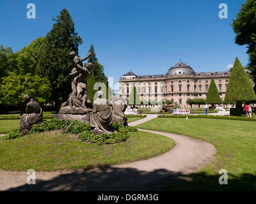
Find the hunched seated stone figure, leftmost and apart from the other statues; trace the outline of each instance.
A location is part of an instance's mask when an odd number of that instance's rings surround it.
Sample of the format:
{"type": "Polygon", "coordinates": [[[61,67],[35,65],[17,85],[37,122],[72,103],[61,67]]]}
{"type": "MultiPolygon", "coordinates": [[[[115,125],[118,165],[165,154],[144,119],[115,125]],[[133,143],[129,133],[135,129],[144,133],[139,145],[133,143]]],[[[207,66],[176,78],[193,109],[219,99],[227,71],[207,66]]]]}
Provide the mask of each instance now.
{"type": "Polygon", "coordinates": [[[34,101],[33,99],[29,98],[28,94],[23,96],[23,100],[26,105],[26,114],[20,117],[20,128],[19,132],[23,135],[29,133],[29,130],[33,126],[33,124],[41,124],[43,120],[43,111],[40,105],[34,101]]]}

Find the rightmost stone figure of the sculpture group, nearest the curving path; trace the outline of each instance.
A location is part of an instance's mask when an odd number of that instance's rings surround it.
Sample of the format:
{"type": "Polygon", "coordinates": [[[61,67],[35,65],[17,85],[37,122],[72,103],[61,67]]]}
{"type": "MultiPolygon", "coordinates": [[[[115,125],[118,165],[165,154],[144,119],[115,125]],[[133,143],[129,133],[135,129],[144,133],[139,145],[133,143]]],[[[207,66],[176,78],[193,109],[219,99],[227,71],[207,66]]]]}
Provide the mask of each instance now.
{"type": "Polygon", "coordinates": [[[119,122],[123,126],[128,126],[127,118],[124,115],[126,108],[127,108],[127,105],[122,100],[122,97],[119,96],[119,99],[114,101],[113,103],[114,122],[119,122]]]}

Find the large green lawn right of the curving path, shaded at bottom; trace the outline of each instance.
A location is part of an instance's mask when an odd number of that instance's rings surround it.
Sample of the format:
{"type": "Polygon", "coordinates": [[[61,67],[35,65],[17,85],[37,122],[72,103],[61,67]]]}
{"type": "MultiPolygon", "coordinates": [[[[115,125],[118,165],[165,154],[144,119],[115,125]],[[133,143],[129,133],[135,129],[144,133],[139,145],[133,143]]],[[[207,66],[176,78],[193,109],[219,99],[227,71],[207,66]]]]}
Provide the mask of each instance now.
{"type": "Polygon", "coordinates": [[[217,155],[197,173],[166,185],[166,191],[255,191],[256,124],[251,121],[218,119],[157,118],[138,128],[187,135],[212,143],[217,155]],[[228,185],[220,185],[218,171],[228,171],[228,185]]]}

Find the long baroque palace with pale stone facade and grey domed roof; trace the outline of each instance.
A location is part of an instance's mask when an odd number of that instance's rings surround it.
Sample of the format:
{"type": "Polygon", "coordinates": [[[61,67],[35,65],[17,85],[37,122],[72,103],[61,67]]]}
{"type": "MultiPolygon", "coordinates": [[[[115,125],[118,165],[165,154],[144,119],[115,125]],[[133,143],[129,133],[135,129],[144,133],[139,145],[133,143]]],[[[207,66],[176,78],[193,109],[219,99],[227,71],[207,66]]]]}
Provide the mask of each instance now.
{"type": "Polygon", "coordinates": [[[120,77],[119,94],[122,98],[128,99],[135,85],[141,101],[156,103],[170,100],[173,104],[186,107],[187,99],[205,99],[211,79],[214,79],[220,98],[224,100],[230,71],[231,69],[196,73],[193,68],[181,61],[171,67],[165,75],[137,76],[129,71],[120,77]]]}

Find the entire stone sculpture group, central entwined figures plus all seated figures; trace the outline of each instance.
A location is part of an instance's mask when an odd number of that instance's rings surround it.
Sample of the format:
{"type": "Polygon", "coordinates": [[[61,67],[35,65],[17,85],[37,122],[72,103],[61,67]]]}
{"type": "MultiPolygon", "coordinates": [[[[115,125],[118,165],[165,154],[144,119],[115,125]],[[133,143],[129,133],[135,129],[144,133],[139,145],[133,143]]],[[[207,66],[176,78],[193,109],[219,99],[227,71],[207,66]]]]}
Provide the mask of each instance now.
{"type": "MultiPolygon", "coordinates": [[[[71,70],[70,77],[72,78],[71,86],[72,93],[69,94],[67,102],[61,105],[59,113],[56,113],[56,119],[79,120],[81,122],[90,122],[95,135],[102,133],[113,133],[113,122],[119,122],[124,126],[127,125],[127,118],[124,115],[127,105],[122,99],[112,98],[112,103],[105,99],[102,91],[95,93],[95,101],[90,101],[87,98],[87,80],[92,75],[93,64],[88,62],[83,67],[83,61],[90,57],[90,53],[83,59],[78,57],[72,51],[70,56],[73,57],[74,68],[71,70]]],[[[42,108],[36,101],[30,99],[28,94],[24,96],[24,101],[27,103],[26,115],[20,119],[20,133],[28,134],[33,124],[42,123],[43,112],[42,108]]]]}

